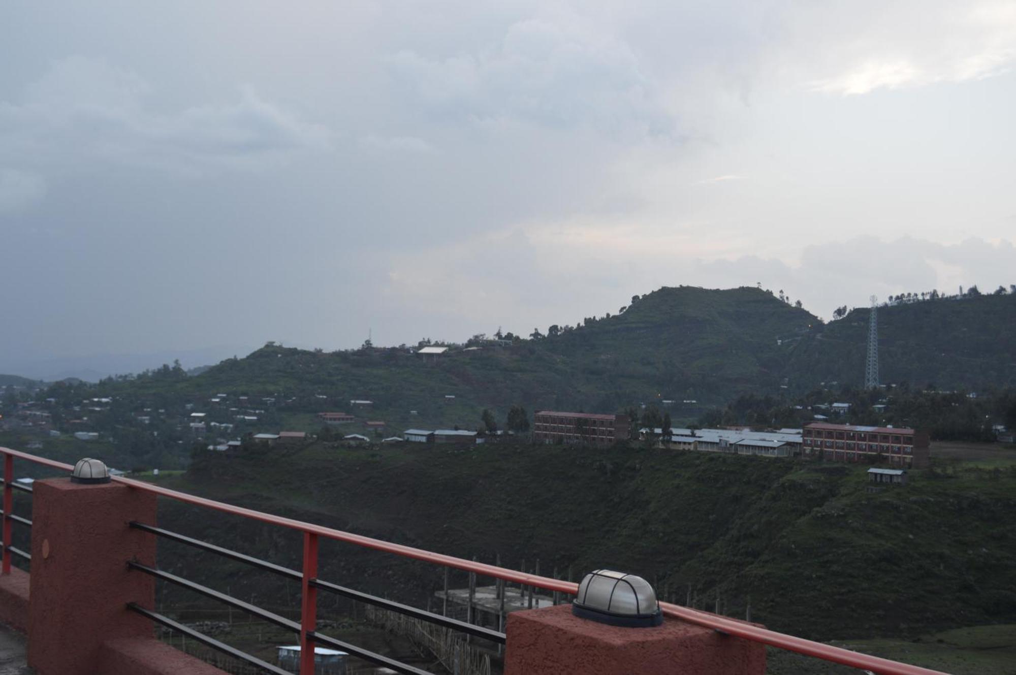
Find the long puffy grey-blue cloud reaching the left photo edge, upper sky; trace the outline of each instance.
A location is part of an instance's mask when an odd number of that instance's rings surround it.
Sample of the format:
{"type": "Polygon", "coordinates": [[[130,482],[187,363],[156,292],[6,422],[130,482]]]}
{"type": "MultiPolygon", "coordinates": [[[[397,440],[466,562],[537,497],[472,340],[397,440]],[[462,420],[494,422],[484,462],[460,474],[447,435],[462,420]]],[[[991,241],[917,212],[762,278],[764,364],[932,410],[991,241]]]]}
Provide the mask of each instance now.
{"type": "Polygon", "coordinates": [[[0,148],[42,170],[91,163],[184,175],[274,166],[295,152],[329,147],[331,132],[242,86],[232,103],[155,112],[154,87],[138,74],[80,56],[62,59],[22,102],[0,104],[0,148]]]}

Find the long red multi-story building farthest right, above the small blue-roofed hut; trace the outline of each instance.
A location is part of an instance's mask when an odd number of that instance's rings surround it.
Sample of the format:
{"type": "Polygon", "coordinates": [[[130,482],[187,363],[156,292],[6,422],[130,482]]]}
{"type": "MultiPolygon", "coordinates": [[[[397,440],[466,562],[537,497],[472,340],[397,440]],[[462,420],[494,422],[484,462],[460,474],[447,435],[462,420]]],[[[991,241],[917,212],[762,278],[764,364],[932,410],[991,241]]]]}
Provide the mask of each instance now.
{"type": "Polygon", "coordinates": [[[928,432],[897,427],[860,427],[813,422],[806,425],[802,454],[826,462],[874,462],[922,469],[929,463],[928,432]]]}

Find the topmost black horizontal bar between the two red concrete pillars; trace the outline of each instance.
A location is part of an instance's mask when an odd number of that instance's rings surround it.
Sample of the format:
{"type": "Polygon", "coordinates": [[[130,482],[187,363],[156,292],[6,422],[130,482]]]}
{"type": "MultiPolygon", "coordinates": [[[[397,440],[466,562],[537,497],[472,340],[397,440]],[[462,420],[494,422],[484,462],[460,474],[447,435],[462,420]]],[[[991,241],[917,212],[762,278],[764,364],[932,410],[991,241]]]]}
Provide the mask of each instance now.
{"type": "MultiPolygon", "coordinates": [[[[166,539],[180,542],[188,546],[193,546],[194,548],[202,549],[204,551],[210,551],[212,553],[217,553],[227,558],[232,558],[233,560],[239,560],[240,562],[246,562],[255,567],[260,567],[261,569],[266,569],[268,571],[274,572],[276,574],[281,574],[283,576],[289,576],[294,579],[302,579],[303,575],[296,569],[291,569],[290,567],[283,567],[281,565],[276,565],[267,560],[261,560],[260,558],[255,558],[253,556],[245,555],[238,551],[233,551],[231,549],[223,548],[221,546],[215,546],[214,544],[209,544],[207,542],[202,542],[199,539],[193,539],[191,537],[186,537],[184,535],[171,532],[169,530],[164,530],[162,528],[155,528],[150,525],[145,525],[143,523],[138,523],[136,520],[131,520],[130,527],[136,530],[142,530],[144,532],[150,532],[153,535],[160,537],[165,537],[166,539]]],[[[505,643],[505,634],[498,632],[497,630],[492,630],[491,628],[484,628],[483,626],[474,626],[471,623],[466,623],[465,621],[459,621],[457,619],[449,619],[446,616],[440,614],[434,614],[433,612],[428,612],[426,610],[417,609],[409,605],[403,605],[401,603],[396,603],[391,600],[385,600],[384,598],[378,598],[377,596],[372,596],[368,593],[363,593],[361,591],[355,591],[337,584],[330,584],[328,581],[322,581],[321,579],[312,579],[311,584],[319,589],[328,591],[330,593],[335,593],[346,598],[352,598],[362,603],[368,605],[374,605],[376,607],[381,607],[383,609],[390,610],[392,612],[398,612],[399,614],[405,614],[424,621],[429,621],[430,623],[435,623],[437,625],[444,626],[446,628],[451,628],[453,630],[459,630],[464,633],[469,633],[470,635],[475,635],[477,637],[483,637],[489,639],[493,642],[505,643]]]]}

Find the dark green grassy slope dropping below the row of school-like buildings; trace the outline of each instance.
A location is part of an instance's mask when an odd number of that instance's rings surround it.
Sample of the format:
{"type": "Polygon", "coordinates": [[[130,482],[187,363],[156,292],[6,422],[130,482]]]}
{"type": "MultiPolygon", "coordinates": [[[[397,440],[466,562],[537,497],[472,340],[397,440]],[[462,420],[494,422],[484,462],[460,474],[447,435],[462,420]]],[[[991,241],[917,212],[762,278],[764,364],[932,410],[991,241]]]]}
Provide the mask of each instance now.
{"type": "MultiPolygon", "coordinates": [[[[526,558],[530,569],[538,558],[545,573],[629,569],[682,600],[690,585],[704,599],[699,606],[711,608],[718,589],[734,615],[751,596],[754,618],[810,637],[1016,620],[1009,469],[914,472],[905,489],[869,494],[861,470],[761,457],[318,444],[282,456],[209,454],[169,482],[460,556],[500,554],[511,566],[526,558]]],[[[281,533],[189,513],[173,507],[162,517],[171,529],[299,566],[297,543],[281,533]]],[[[439,570],[350,547],[335,549],[323,576],[417,601],[441,584],[439,570]]]]}

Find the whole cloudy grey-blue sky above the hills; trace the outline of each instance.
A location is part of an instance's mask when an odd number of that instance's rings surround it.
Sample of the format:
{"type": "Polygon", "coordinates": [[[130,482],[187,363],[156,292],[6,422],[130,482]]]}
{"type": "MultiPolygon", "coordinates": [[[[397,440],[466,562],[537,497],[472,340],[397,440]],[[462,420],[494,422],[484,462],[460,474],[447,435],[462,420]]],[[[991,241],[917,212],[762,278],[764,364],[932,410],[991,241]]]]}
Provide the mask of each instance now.
{"type": "Polygon", "coordinates": [[[0,372],[1016,283],[1012,1],[11,0],[0,55],[0,372]]]}

